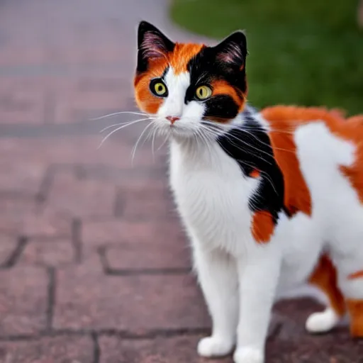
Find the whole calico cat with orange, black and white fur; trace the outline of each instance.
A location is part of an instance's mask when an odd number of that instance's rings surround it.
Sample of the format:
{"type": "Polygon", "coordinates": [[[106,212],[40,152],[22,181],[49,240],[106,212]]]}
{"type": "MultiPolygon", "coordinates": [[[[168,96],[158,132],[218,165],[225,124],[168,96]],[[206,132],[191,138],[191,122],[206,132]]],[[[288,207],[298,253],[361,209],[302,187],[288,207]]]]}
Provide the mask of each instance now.
{"type": "Polygon", "coordinates": [[[363,118],[247,104],[247,46],[138,28],[135,99],[169,138],[170,183],[213,320],[198,352],[264,362],[278,289],[308,281],[330,301],[306,328],[345,312],[363,337],[363,118]]]}

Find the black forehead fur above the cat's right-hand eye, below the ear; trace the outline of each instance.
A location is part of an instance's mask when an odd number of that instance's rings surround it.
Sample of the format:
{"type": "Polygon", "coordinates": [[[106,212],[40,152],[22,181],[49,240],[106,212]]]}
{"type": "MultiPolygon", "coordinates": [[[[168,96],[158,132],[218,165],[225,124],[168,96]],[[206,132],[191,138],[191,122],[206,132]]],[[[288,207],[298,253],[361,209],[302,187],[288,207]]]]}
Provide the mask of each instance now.
{"type": "Polygon", "coordinates": [[[187,69],[190,73],[191,85],[210,83],[213,79],[225,79],[237,91],[245,94],[247,91],[245,67],[240,71],[231,71],[217,62],[216,50],[211,47],[202,48],[201,51],[189,60],[187,69]]]}

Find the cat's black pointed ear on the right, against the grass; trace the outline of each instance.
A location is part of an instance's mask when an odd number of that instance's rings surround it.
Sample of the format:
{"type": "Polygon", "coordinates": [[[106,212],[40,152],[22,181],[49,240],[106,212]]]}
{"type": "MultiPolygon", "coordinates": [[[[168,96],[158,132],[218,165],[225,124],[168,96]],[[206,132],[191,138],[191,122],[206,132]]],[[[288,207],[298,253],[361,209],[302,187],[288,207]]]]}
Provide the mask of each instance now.
{"type": "Polygon", "coordinates": [[[216,60],[227,67],[242,69],[247,56],[247,40],[242,31],[236,31],[222,40],[214,48],[216,60]]]}

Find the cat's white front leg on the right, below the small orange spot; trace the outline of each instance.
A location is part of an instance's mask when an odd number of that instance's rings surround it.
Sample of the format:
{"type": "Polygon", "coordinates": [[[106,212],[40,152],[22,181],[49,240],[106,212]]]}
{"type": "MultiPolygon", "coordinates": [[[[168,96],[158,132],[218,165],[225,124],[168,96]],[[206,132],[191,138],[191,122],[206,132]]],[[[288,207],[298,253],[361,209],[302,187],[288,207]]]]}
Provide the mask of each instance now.
{"type": "Polygon", "coordinates": [[[279,255],[276,248],[264,245],[256,246],[238,259],[240,318],[235,363],[264,362],[264,346],[281,268],[279,255]]]}

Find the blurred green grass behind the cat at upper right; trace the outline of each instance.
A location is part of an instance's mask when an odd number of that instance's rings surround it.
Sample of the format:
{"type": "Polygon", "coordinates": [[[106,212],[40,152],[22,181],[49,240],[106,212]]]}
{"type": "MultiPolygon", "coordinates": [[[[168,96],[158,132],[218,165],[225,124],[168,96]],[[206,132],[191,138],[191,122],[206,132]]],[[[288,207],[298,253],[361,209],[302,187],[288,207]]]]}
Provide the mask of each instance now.
{"type": "Polygon", "coordinates": [[[247,35],[248,99],[363,113],[363,31],[357,0],[173,0],[172,19],[221,39],[247,35]]]}

